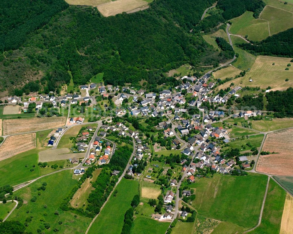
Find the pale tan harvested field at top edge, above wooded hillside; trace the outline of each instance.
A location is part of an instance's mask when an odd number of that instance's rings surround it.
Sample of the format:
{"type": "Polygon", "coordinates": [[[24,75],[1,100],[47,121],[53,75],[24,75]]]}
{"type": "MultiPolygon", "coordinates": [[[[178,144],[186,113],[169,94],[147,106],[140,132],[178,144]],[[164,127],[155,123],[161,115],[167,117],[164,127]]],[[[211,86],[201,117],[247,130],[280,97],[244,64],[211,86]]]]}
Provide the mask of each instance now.
{"type": "Polygon", "coordinates": [[[98,6],[98,10],[103,16],[115,16],[122,12],[131,11],[135,8],[147,5],[148,3],[142,0],[117,0],[98,6]]]}

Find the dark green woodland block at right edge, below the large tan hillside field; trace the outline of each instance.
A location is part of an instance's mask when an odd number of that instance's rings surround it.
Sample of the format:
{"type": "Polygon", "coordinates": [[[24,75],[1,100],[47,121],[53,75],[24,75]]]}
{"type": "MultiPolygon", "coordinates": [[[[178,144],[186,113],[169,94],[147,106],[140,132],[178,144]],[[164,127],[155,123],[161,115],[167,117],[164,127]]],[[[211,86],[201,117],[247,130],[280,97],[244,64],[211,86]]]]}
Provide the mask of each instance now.
{"type": "Polygon", "coordinates": [[[267,110],[275,111],[277,118],[293,117],[293,88],[285,91],[271,91],[266,94],[267,110]]]}

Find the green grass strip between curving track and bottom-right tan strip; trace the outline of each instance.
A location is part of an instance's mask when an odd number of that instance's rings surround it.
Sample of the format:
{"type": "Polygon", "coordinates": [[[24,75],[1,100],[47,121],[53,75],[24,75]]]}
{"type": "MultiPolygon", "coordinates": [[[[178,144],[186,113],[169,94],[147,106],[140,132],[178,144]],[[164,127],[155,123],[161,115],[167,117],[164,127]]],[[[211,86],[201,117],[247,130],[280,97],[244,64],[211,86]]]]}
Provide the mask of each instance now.
{"type": "Polygon", "coordinates": [[[250,234],[266,233],[276,234],[280,233],[282,213],[286,199],[286,192],[273,180],[270,180],[268,187],[268,194],[265,199],[265,206],[263,209],[263,216],[260,226],[255,230],[249,232],[250,234]]]}

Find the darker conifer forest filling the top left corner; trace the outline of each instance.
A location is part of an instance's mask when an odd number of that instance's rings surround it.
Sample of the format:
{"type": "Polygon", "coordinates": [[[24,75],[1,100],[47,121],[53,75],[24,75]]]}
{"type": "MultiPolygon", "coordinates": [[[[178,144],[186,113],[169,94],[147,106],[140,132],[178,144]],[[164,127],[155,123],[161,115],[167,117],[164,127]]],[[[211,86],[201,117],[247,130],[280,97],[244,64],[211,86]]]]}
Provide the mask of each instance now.
{"type": "Polygon", "coordinates": [[[64,0],[5,0],[0,7],[0,51],[17,49],[27,34],[68,7],[64,0]]]}

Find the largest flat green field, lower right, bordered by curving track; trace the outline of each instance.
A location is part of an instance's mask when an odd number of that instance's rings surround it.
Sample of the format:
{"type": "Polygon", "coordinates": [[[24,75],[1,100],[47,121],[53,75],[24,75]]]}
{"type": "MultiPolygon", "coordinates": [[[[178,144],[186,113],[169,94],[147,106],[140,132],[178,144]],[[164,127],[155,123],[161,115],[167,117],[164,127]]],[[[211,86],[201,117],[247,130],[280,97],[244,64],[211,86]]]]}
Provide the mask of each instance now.
{"type": "Polygon", "coordinates": [[[200,178],[194,184],[196,198],[192,206],[205,217],[252,228],[258,222],[267,178],[259,174],[200,178]]]}

